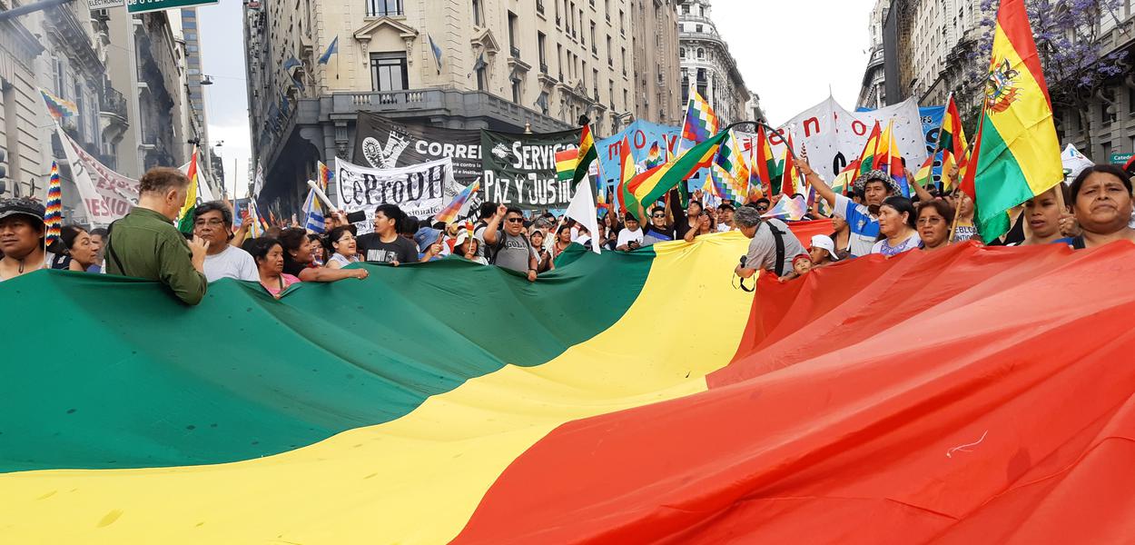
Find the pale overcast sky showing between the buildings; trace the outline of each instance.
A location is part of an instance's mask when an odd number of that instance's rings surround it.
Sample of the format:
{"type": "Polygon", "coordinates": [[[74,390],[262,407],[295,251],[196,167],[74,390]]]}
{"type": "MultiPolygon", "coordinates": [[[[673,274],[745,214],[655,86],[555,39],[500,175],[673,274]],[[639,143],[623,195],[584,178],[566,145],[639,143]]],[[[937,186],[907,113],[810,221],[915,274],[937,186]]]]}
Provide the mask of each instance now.
{"type": "MultiPolygon", "coordinates": [[[[241,3],[199,8],[209,139],[224,141],[225,181],[247,190],[247,94],[241,3]]],[[[855,109],[867,66],[867,19],[873,0],[714,0],[712,17],[729,43],[748,87],[773,125],[827,98],[855,109]]]]}

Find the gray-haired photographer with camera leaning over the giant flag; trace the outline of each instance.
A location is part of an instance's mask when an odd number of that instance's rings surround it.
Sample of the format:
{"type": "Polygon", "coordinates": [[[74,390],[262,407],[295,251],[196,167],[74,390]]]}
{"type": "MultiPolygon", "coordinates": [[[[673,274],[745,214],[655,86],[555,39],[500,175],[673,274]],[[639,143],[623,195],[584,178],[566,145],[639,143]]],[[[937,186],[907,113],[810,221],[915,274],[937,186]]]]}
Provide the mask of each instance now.
{"type": "Polygon", "coordinates": [[[745,236],[753,238],[749,253],[733,270],[741,278],[749,278],[762,269],[784,276],[792,271],[792,258],[807,253],[788,225],[775,218],[762,218],[755,208],[746,206],[737,209],[733,224],[745,236]]]}

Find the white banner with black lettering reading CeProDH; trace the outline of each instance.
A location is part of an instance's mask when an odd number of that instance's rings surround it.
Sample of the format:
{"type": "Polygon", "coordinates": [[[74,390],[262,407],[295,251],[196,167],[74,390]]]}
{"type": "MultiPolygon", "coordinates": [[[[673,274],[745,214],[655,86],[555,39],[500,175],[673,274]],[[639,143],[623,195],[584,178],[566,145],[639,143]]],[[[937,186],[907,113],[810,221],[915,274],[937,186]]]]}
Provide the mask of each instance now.
{"type": "Polygon", "coordinates": [[[446,188],[453,179],[453,160],[448,157],[401,168],[367,168],[335,159],[339,208],[345,212],[367,212],[367,220],[355,224],[359,234],[375,227],[375,209],[379,204],[397,204],[403,212],[426,219],[448,203],[446,188]]]}

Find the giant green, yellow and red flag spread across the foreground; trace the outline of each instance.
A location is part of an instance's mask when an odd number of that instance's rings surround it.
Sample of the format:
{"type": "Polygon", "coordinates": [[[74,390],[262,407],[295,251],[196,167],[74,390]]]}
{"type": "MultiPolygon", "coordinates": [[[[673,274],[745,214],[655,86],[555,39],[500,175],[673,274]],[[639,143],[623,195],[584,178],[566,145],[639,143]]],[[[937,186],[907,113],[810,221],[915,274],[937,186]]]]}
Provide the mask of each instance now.
{"type": "Polygon", "coordinates": [[[754,299],[728,278],[746,242],[572,250],[536,284],[456,259],[280,301],[221,280],[196,308],[5,282],[0,543],[1135,534],[1135,293],[1111,287],[1135,248],[866,257],[754,299]]]}

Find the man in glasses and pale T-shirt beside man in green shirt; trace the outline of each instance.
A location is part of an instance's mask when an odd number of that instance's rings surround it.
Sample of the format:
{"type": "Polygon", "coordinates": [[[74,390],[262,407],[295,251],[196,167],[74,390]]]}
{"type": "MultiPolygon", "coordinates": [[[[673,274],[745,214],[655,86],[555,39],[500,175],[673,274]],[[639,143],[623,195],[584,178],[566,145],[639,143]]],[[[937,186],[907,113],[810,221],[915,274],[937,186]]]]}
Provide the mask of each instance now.
{"type": "Polygon", "coordinates": [[[193,210],[193,234],[209,242],[204,274],[209,282],[221,278],[257,282],[260,278],[252,255],[229,244],[233,210],[221,201],[203,202],[193,210]]]}

